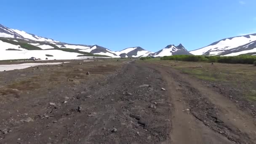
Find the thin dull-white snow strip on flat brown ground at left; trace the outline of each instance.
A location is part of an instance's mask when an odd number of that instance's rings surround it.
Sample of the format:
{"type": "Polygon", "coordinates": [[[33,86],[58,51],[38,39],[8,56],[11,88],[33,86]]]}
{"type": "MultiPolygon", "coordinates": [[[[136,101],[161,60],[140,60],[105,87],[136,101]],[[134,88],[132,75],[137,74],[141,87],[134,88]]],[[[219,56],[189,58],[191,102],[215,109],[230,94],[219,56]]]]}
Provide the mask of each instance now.
{"type": "MultiPolygon", "coordinates": [[[[64,62],[69,63],[69,62],[64,62]]],[[[55,65],[62,64],[62,62],[53,62],[53,63],[24,63],[24,64],[8,64],[8,65],[0,65],[0,72],[9,71],[14,69],[25,69],[28,67],[35,67],[39,65],[55,65]]]]}

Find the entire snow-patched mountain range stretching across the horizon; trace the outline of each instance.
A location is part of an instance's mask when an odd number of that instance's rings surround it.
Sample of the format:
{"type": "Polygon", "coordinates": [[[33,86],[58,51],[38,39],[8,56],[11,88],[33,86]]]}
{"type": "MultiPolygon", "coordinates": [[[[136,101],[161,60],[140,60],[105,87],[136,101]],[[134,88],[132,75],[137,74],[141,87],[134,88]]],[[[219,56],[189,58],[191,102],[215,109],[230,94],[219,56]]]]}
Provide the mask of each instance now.
{"type": "Polygon", "coordinates": [[[28,59],[84,59],[88,57],[162,57],[171,55],[256,55],[256,34],[230,37],[206,47],[187,51],[182,44],[167,45],[157,52],[147,51],[139,46],[111,51],[99,45],[64,43],[51,38],[40,37],[27,32],[11,29],[0,24],[0,60],[28,59]]]}

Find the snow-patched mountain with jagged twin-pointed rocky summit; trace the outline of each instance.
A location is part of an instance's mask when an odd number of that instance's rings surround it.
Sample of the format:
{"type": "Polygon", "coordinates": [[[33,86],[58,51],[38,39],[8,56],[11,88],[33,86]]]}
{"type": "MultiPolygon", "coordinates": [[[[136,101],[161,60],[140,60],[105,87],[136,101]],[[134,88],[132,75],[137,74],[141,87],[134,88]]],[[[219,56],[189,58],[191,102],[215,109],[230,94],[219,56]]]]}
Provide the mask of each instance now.
{"type": "Polygon", "coordinates": [[[189,53],[182,44],[179,44],[178,46],[167,45],[162,50],[157,51],[156,53],[150,54],[150,56],[154,56],[154,57],[173,56],[173,55],[191,55],[191,53],[189,53]]]}

